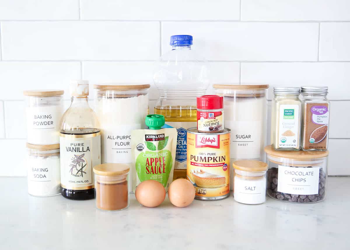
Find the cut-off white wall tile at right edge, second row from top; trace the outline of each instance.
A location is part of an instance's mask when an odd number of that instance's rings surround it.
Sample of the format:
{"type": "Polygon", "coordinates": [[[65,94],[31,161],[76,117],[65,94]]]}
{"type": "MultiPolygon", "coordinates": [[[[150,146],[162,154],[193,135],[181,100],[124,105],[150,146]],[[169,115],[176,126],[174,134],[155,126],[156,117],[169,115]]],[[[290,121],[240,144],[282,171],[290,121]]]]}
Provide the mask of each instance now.
{"type": "MultiPolygon", "coordinates": [[[[350,1],[348,1],[350,6],[350,1]]],[[[346,10],[349,14],[349,8],[346,10]]],[[[350,23],[321,23],[320,61],[350,61],[350,23]]]]}

